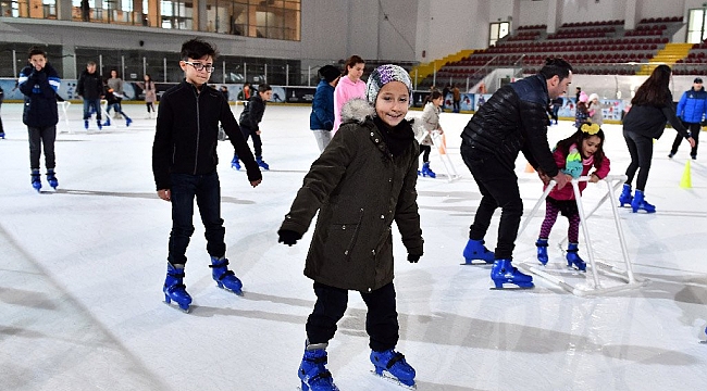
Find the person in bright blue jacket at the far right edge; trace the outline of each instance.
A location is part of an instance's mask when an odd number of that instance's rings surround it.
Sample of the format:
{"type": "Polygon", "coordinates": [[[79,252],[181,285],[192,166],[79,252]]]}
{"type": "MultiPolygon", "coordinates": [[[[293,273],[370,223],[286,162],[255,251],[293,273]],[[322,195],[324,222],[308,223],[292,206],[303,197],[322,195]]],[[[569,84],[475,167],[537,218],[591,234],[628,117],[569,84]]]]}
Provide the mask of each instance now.
{"type": "MultiPolygon", "coordinates": [[[[682,94],[675,111],[682,124],[685,125],[692,138],[695,139],[695,147],[690,151],[690,155],[693,160],[696,160],[699,130],[705,118],[707,118],[707,91],[703,87],[700,77],[696,77],[692,88],[682,94]]],[[[672,157],[678,153],[678,147],[680,147],[682,140],[683,137],[680,134],[675,135],[675,141],[672,142],[668,157],[672,157]]]]}

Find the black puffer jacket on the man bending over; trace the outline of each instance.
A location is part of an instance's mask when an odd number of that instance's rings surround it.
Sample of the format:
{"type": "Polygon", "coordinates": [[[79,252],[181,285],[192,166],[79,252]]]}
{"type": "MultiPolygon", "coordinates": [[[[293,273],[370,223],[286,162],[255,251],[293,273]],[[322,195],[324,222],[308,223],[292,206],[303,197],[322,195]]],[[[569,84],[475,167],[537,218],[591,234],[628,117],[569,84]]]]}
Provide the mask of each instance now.
{"type": "Polygon", "coordinates": [[[513,169],[518,152],[550,177],[558,169],[547,143],[547,83],[530,76],[501,87],[469,121],[461,138],[474,153],[513,169]]]}

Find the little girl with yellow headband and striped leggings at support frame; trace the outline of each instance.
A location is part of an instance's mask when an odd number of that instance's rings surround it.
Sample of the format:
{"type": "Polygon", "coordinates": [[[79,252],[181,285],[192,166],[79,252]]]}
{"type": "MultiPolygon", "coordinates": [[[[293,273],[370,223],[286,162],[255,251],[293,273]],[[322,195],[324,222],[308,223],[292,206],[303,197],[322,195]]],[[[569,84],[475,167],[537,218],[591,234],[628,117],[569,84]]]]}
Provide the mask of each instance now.
{"type": "MultiPolygon", "coordinates": [[[[609,174],[609,157],[604,154],[604,131],[597,124],[584,123],[572,136],[557,143],[555,151],[555,163],[562,173],[576,179],[587,175],[592,167],[594,172],[590,181],[595,184],[604,179],[609,174]]],[[[549,181],[545,178],[544,181],[549,181]]],[[[580,193],[586,188],[586,182],[578,184],[580,193]]],[[[580,236],[580,212],[576,209],[574,199],[574,189],[572,186],[566,186],[562,189],[553,189],[545,201],[545,219],[541,226],[541,235],[535,242],[537,247],[537,261],[543,265],[547,264],[547,239],[557,214],[562,213],[570,223],[567,238],[569,241],[567,249],[567,266],[575,266],[580,270],[586,270],[586,263],[578,254],[578,242],[580,236]]]]}

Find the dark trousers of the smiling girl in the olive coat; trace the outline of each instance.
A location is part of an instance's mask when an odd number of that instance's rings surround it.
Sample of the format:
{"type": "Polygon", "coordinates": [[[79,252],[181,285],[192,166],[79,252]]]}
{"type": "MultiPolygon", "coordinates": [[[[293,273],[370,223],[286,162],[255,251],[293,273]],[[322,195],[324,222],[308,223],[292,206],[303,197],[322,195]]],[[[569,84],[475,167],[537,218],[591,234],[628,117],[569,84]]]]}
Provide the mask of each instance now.
{"type": "MultiPolygon", "coordinates": [[[[383,352],[398,344],[398,313],[395,308],[395,286],[393,282],[370,293],[360,292],[368,306],[365,332],[369,346],[383,352]]],[[[317,303],[307,318],[309,343],[326,343],[336,332],[336,323],[344,317],[348,304],[348,290],[314,282],[317,303]]]]}

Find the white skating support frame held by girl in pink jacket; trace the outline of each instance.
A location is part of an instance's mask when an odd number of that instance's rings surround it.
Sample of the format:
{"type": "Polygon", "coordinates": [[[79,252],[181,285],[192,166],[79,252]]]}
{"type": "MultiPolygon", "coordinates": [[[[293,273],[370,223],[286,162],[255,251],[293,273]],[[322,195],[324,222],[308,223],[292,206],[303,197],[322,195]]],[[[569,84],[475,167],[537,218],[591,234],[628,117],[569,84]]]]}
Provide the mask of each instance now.
{"type": "MultiPolygon", "coordinates": [[[[572,286],[571,283],[565,281],[562,278],[557,277],[544,269],[542,266],[537,265],[531,265],[530,263],[520,263],[518,264],[519,268],[524,269],[525,272],[532,273],[546,281],[555,285],[556,287],[563,289],[572,294],[579,295],[579,297],[586,297],[586,295],[600,295],[605,293],[611,293],[611,292],[617,292],[617,291],[624,291],[624,290],[630,290],[630,289],[636,289],[645,285],[645,280],[638,279],[634,276],[633,274],[633,267],[631,264],[631,260],[629,258],[629,251],[627,249],[625,244],[625,238],[623,236],[623,229],[621,228],[621,220],[619,218],[619,211],[618,211],[618,205],[617,205],[617,198],[615,197],[615,191],[623,185],[625,181],[627,176],[625,175],[609,175],[606,178],[601,180],[601,182],[606,184],[607,187],[607,192],[604,194],[604,197],[599,200],[599,202],[594,206],[594,209],[588,213],[584,213],[584,206],[582,205],[582,197],[580,194],[580,188],[578,184],[580,181],[588,181],[590,177],[580,177],[579,179],[572,180],[572,189],[574,190],[574,199],[576,200],[576,209],[580,213],[580,222],[582,224],[582,234],[584,235],[584,245],[586,245],[586,250],[588,253],[588,266],[590,269],[592,270],[592,278],[594,282],[594,287],[586,289],[586,288],[581,288],[578,286],[572,286]],[[598,209],[601,206],[606,200],[609,200],[611,203],[611,212],[613,213],[613,223],[616,224],[616,229],[617,234],[619,237],[619,243],[621,245],[621,252],[623,254],[623,262],[625,265],[625,270],[622,270],[618,267],[615,267],[610,264],[597,261],[594,258],[594,250],[592,249],[592,240],[590,240],[590,230],[586,225],[586,219],[592,216],[598,209]],[[600,266],[600,267],[599,267],[600,266]],[[619,285],[619,286],[613,286],[613,287],[603,287],[601,283],[599,282],[599,272],[610,272],[610,273],[605,273],[609,276],[616,277],[620,280],[622,280],[625,283],[619,285]]],[[[549,192],[553,190],[553,188],[557,184],[555,180],[550,180],[550,184],[547,186],[545,191],[543,192],[543,197],[541,197],[539,200],[535,203],[535,206],[533,206],[532,212],[530,215],[523,220],[523,224],[518,232],[518,236],[520,236],[525,227],[528,226],[528,223],[533,218],[533,216],[537,213],[537,210],[539,209],[541,204],[545,203],[545,199],[549,194],[549,192]]],[[[561,241],[563,242],[567,240],[567,237],[561,241]]]]}

